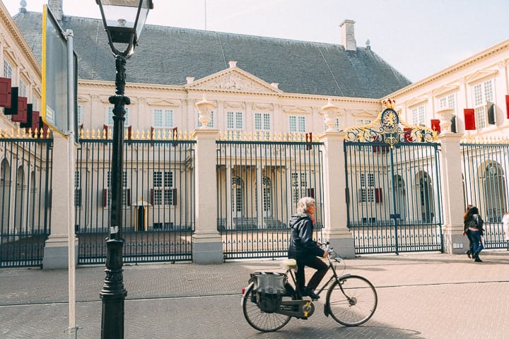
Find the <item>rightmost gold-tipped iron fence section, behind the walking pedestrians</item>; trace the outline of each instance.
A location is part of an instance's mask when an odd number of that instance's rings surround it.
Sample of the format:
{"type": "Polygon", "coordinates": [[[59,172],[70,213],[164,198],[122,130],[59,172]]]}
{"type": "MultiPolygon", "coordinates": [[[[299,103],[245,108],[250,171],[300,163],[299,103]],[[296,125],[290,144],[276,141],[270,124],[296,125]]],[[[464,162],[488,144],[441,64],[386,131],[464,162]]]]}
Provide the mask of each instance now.
{"type": "Polygon", "coordinates": [[[469,204],[479,208],[486,248],[505,248],[502,217],[509,211],[509,138],[465,138],[460,147],[465,208],[469,204]]]}

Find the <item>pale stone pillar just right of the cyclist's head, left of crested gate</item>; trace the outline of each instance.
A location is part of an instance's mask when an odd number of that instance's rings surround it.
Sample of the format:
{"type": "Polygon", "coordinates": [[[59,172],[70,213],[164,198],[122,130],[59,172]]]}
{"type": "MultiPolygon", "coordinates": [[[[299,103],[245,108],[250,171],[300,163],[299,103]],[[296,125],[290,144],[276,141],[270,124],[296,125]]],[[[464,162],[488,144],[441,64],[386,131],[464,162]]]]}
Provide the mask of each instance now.
{"type": "Polygon", "coordinates": [[[324,239],[328,239],[337,254],[353,258],[353,237],[346,227],[346,179],[342,132],[325,131],[320,135],[324,143],[324,239]]]}

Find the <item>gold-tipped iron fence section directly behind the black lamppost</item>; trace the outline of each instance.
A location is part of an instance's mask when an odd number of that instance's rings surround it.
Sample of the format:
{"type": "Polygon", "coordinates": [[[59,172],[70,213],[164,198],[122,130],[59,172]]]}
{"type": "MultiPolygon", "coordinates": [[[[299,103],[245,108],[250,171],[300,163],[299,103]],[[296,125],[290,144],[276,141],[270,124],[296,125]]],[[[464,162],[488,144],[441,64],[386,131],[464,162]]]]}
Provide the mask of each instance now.
{"type": "MultiPolygon", "coordinates": [[[[147,136],[148,140],[124,141],[124,262],[189,261],[195,141],[154,132],[147,136]]],[[[75,179],[79,264],[105,263],[111,152],[110,139],[80,141],[75,179]]]]}

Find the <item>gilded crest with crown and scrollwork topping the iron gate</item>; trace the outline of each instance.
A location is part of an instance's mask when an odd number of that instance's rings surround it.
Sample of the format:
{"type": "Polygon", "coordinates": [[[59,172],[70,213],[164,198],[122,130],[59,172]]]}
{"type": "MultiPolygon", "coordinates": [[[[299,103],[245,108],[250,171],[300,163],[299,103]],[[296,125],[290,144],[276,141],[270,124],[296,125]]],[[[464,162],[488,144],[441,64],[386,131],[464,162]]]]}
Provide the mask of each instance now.
{"type": "Polygon", "coordinates": [[[437,132],[426,126],[409,126],[394,110],[395,101],[384,100],[385,109],[377,119],[367,125],[345,129],[345,141],[365,143],[387,143],[390,148],[400,142],[430,143],[436,141],[437,132]]]}

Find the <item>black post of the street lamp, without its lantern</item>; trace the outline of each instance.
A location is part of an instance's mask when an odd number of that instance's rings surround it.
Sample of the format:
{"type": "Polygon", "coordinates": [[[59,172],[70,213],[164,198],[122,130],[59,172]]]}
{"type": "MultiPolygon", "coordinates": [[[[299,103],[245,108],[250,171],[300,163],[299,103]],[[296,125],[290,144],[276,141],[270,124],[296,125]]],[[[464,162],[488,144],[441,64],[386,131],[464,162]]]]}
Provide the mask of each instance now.
{"type": "Polygon", "coordinates": [[[115,57],[117,77],[115,86],[116,95],[110,97],[113,107],[113,150],[110,177],[111,212],[110,234],[106,241],[106,278],[100,297],[103,299],[103,314],[101,319],[102,339],[124,338],[124,301],[127,290],[124,288],[122,276],[122,187],[123,187],[123,160],[124,160],[124,120],[125,107],[131,100],[124,96],[126,58],[123,55],[115,57]]]}

